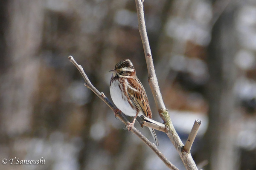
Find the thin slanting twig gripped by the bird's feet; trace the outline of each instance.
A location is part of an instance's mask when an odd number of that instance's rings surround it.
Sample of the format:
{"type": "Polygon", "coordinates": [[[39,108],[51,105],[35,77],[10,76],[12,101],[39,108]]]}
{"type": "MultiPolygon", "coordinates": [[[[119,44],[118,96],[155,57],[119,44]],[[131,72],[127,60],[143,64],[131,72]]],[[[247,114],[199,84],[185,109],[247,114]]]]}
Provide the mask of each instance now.
{"type": "MultiPolygon", "coordinates": [[[[113,105],[103,93],[100,93],[93,86],[93,84],[88,79],[87,75],[84,73],[84,69],[81,67],[81,65],[79,65],[72,56],[69,56],[68,58],[69,58],[70,62],[72,62],[76,66],[76,68],[79,70],[82,77],[84,78],[84,81],[85,81],[84,85],[87,88],[89,88],[91,91],[93,91],[93,93],[95,93],[100,99],[102,99],[108,105],[108,107],[111,108],[112,111],[115,111],[117,109],[116,106],[113,105]]],[[[125,125],[128,125],[130,123],[124,116],[122,116],[121,113],[116,113],[116,117],[118,117],[125,125]]],[[[157,156],[166,164],[167,167],[169,167],[171,170],[179,170],[177,167],[175,167],[175,165],[173,165],[170,161],[168,161],[166,156],[164,156],[163,153],[161,153],[160,150],[157,149],[155,144],[150,142],[134,126],[131,128],[131,132],[133,132],[136,136],[138,136],[151,150],[153,150],[154,153],[156,153],[157,156]]]]}

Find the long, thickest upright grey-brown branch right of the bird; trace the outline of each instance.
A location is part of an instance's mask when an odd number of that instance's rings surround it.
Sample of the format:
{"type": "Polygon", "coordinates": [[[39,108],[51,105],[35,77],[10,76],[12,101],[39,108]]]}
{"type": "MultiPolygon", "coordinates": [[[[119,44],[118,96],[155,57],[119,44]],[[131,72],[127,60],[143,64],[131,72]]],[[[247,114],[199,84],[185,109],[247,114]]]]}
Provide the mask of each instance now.
{"type": "Polygon", "coordinates": [[[164,124],[167,126],[167,136],[171,140],[172,144],[175,146],[177,152],[180,155],[180,159],[183,161],[184,166],[187,170],[198,170],[196,167],[195,161],[192,159],[190,153],[187,153],[182,150],[184,144],[182,143],[180,137],[178,136],[172,121],[170,119],[168,110],[166,109],[163,98],[159,89],[159,85],[157,82],[157,77],[154,71],[154,63],[152,59],[151,49],[148,42],[148,35],[145,26],[145,17],[144,17],[144,10],[143,10],[143,1],[135,0],[136,7],[137,7],[137,16],[138,16],[138,23],[139,23],[139,32],[140,37],[142,40],[145,59],[148,68],[148,83],[150,85],[152,94],[154,96],[154,101],[157,106],[158,113],[160,117],[163,119],[164,124]]]}

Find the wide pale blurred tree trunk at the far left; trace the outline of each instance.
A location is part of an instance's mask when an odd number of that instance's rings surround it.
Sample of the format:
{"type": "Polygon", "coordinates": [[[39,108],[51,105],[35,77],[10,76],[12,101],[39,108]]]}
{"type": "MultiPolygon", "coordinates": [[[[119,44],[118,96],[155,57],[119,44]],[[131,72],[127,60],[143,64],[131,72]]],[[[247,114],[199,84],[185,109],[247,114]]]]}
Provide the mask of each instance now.
{"type": "Polygon", "coordinates": [[[30,128],[33,93],[37,87],[41,44],[42,3],[40,0],[7,1],[3,38],[6,55],[1,72],[0,108],[4,132],[19,135],[30,128]]]}

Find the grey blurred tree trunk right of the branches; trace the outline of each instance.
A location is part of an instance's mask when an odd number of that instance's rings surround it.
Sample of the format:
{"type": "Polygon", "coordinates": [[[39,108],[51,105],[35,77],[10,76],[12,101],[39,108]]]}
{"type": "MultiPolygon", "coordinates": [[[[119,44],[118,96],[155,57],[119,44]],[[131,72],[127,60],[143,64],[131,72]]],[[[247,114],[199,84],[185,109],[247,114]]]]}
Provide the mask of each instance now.
{"type": "Polygon", "coordinates": [[[209,100],[209,127],[204,152],[208,155],[207,169],[211,170],[237,170],[239,167],[236,165],[236,130],[231,124],[236,115],[233,91],[236,79],[233,62],[236,54],[235,5],[230,2],[213,26],[208,49],[210,81],[206,90],[209,100]]]}

